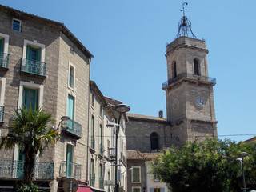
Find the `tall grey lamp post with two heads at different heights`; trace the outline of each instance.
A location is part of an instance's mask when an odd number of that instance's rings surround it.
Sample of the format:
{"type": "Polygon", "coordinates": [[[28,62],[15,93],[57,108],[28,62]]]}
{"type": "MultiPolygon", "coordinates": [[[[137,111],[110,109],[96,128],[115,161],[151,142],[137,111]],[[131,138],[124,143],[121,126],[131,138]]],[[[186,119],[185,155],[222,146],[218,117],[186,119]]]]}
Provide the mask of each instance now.
{"type": "Polygon", "coordinates": [[[118,134],[120,129],[120,121],[122,118],[122,114],[126,113],[130,110],[130,106],[127,106],[126,104],[119,104],[115,106],[114,110],[116,110],[119,113],[118,117],[118,124],[110,122],[106,126],[112,126],[115,128],[115,173],[114,173],[114,191],[118,192],[118,134]]]}

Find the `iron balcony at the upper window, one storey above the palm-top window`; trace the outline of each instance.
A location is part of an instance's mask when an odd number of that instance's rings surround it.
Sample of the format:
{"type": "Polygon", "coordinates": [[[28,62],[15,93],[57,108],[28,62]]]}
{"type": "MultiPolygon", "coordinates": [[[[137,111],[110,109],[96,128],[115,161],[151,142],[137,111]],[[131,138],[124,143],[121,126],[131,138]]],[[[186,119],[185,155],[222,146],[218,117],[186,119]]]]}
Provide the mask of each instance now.
{"type": "Polygon", "coordinates": [[[29,58],[21,59],[21,71],[28,74],[35,74],[46,77],[46,63],[38,62],[29,58]]]}

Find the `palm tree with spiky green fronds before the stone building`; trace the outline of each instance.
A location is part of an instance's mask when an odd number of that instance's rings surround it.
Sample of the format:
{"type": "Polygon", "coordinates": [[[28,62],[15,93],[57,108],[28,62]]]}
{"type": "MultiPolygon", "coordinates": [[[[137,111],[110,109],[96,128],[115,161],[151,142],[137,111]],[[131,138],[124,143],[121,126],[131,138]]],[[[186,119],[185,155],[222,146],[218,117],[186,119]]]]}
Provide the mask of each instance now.
{"type": "Polygon", "coordinates": [[[47,114],[42,108],[31,108],[25,106],[21,110],[14,110],[9,133],[0,140],[0,149],[3,146],[11,149],[17,145],[25,156],[23,182],[29,186],[32,184],[35,155],[42,155],[46,146],[54,144],[58,138],[58,131],[48,126],[53,122],[51,114],[47,114]]]}

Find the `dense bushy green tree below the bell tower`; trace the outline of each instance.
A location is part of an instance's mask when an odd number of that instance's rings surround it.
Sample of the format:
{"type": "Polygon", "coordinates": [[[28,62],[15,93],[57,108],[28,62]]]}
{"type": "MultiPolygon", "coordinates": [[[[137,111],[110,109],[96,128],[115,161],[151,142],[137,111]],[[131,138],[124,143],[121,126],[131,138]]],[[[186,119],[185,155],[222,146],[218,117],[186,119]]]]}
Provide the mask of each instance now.
{"type": "Polygon", "coordinates": [[[256,143],[206,138],[181,149],[172,146],[151,163],[151,173],[174,192],[242,191],[242,169],[236,161],[242,151],[250,154],[244,158],[246,187],[256,189],[256,143]]]}

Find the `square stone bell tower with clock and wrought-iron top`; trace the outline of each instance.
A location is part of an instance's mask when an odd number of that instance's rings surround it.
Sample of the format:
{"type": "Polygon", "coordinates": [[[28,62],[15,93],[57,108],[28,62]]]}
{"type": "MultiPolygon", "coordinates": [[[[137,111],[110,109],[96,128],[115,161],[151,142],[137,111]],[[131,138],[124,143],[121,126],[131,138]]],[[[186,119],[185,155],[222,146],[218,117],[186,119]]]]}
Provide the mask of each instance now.
{"type": "Polygon", "coordinates": [[[166,91],[167,120],[172,134],[181,142],[202,141],[206,135],[217,137],[213,86],[215,78],[208,74],[206,42],[195,37],[185,16],[178,25],[178,34],[166,46],[168,81],[166,91]]]}

